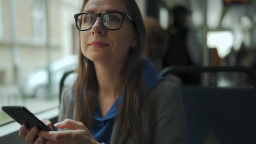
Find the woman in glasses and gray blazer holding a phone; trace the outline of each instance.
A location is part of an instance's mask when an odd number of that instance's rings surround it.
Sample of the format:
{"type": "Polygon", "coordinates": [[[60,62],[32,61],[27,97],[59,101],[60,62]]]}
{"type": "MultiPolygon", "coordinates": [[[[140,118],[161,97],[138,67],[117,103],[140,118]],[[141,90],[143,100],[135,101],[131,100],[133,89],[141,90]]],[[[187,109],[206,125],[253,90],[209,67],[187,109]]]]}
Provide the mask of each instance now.
{"type": "Polygon", "coordinates": [[[187,144],[178,86],[141,56],[145,28],[135,1],[84,0],[74,17],[78,77],[63,92],[55,124],[66,131],[27,132],[22,125],[20,136],[35,144],[187,144]]]}

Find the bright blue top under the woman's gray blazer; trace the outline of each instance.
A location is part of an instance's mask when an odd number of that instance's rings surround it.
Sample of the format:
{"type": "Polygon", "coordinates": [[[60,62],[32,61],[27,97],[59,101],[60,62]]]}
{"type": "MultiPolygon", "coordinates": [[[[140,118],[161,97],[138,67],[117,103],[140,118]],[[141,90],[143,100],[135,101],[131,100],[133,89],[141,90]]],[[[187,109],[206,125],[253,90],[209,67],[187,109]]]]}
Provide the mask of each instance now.
{"type": "MultiPolygon", "coordinates": [[[[151,91],[161,81],[165,80],[161,77],[155,67],[150,64],[149,60],[144,58],[142,65],[142,79],[146,84],[147,88],[151,91]]],[[[74,91],[72,91],[72,98],[75,99],[74,91]]],[[[99,107],[96,107],[94,112],[94,123],[93,123],[93,138],[99,143],[104,142],[110,143],[113,126],[115,123],[115,116],[118,114],[118,107],[123,100],[123,92],[116,102],[112,105],[107,112],[105,117],[101,117],[101,111],[99,107]]]]}

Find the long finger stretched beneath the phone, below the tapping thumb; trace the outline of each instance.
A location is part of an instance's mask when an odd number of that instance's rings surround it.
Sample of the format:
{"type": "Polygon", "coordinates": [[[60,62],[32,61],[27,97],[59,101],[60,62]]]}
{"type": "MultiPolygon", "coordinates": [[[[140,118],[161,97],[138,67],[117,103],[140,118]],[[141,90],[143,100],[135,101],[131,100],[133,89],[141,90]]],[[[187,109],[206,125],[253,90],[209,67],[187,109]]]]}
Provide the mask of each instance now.
{"type": "Polygon", "coordinates": [[[75,139],[76,132],[84,130],[68,130],[68,131],[40,131],[39,136],[43,137],[43,139],[47,139],[50,141],[67,141],[70,139],[75,139]]]}

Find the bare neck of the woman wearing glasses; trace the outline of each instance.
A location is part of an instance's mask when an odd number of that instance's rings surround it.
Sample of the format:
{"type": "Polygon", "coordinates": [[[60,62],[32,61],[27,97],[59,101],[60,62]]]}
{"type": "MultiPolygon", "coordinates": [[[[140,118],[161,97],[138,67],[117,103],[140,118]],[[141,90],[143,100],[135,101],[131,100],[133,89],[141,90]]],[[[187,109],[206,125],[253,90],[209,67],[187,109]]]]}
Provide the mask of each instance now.
{"type": "Polygon", "coordinates": [[[94,62],[95,72],[99,84],[99,97],[119,96],[121,93],[121,69],[123,61],[112,62],[94,62]],[[116,89],[117,88],[117,89],[116,89]],[[116,93],[115,93],[116,90],[116,93]]]}

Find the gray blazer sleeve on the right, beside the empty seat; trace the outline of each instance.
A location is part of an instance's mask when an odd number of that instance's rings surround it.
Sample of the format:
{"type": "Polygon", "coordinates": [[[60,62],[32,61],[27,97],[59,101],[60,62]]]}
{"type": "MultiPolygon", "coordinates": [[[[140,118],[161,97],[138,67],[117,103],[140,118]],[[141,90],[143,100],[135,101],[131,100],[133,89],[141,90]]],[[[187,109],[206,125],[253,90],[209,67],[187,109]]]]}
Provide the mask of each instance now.
{"type": "Polygon", "coordinates": [[[188,144],[187,123],[181,90],[171,84],[157,110],[153,144],[188,144]]]}

